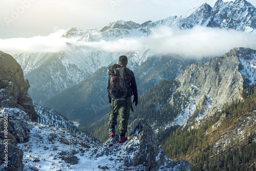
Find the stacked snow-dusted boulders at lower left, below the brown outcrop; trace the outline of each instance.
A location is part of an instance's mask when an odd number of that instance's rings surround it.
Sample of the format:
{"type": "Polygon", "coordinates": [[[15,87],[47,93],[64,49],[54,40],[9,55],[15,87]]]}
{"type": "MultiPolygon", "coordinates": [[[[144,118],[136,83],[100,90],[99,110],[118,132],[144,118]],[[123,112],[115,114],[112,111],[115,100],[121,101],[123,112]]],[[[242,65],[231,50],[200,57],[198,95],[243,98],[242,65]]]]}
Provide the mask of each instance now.
{"type": "Polygon", "coordinates": [[[29,141],[29,116],[17,108],[0,110],[0,170],[23,169],[23,151],[17,143],[29,141]]]}

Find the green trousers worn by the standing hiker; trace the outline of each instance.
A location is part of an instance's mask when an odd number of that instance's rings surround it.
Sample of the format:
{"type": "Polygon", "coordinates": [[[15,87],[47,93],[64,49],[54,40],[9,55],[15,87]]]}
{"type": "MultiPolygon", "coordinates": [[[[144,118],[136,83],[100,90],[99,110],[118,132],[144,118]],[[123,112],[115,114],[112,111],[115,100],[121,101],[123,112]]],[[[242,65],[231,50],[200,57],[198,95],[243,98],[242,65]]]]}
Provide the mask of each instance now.
{"type": "Polygon", "coordinates": [[[118,111],[120,109],[120,123],[118,126],[118,130],[120,134],[125,134],[127,132],[128,120],[130,117],[130,109],[131,109],[131,97],[127,97],[125,100],[116,100],[112,99],[111,108],[112,112],[110,114],[110,126],[115,126],[117,124],[117,116],[118,111]]]}

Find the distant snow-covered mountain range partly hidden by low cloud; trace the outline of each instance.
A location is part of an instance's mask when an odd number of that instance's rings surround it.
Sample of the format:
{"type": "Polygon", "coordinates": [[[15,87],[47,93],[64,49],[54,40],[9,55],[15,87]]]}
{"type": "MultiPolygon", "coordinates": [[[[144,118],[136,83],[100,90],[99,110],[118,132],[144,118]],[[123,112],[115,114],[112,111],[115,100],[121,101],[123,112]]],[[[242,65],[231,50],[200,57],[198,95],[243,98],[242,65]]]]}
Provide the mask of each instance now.
{"type": "MultiPolygon", "coordinates": [[[[197,25],[255,33],[255,11],[255,7],[247,1],[225,3],[217,1],[214,7],[202,4],[184,15],[171,16],[156,22],[147,21],[137,24],[119,20],[102,29],[72,28],[60,36],[76,39],[79,44],[84,41],[115,41],[147,37],[152,34],[153,28],[159,26],[190,29],[197,25]]],[[[147,58],[159,56],[150,49],[141,49],[136,52],[109,52],[70,43],[67,43],[66,47],[66,50],[56,53],[13,54],[22,66],[25,78],[30,81],[29,94],[34,102],[44,102],[61,90],[93,74],[99,68],[111,65],[120,55],[126,54],[129,57],[131,69],[136,69],[147,58]]]]}

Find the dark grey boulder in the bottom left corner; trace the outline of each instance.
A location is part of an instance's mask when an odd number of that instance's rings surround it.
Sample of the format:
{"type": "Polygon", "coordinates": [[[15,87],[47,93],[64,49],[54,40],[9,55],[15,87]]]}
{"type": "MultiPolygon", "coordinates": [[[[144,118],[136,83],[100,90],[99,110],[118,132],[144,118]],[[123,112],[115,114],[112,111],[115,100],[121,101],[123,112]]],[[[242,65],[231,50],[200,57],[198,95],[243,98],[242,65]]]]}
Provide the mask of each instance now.
{"type": "Polygon", "coordinates": [[[20,170],[23,169],[23,151],[19,149],[12,141],[7,144],[0,143],[0,162],[1,164],[5,162],[5,155],[8,154],[8,167],[5,166],[6,163],[0,166],[0,170],[20,170]],[[8,144],[8,145],[7,145],[8,144]],[[6,146],[8,148],[8,153],[4,153],[6,146]]]}

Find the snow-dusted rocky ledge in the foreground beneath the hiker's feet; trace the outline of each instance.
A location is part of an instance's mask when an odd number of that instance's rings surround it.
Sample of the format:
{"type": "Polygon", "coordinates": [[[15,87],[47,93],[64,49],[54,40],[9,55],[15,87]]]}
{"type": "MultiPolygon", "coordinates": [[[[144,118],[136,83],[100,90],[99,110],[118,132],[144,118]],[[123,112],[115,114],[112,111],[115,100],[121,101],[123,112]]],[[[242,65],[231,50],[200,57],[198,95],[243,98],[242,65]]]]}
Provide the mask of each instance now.
{"type": "MultiPolygon", "coordinates": [[[[20,113],[26,116],[17,108],[4,109],[0,119],[12,114],[20,116],[20,113]]],[[[118,137],[115,137],[103,144],[95,143],[84,135],[75,135],[70,130],[30,122],[23,117],[12,120],[15,123],[21,120],[26,122],[23,124],[29,129],[29,139],[17,143],[23,151],[20,153],[23,154],[23,170],[191,170],[186,160],[175,162],[164,155],[152,127],[145,119],[139,121],[126,142],[119,143],[118,137]]],[[[16,132],[12,122],[9,126],[16,132]]],[[[23,129],[20,127],[19,131],[23,129]]],[[[14,135],[19,138],[18,134],[14,135]]]]}

